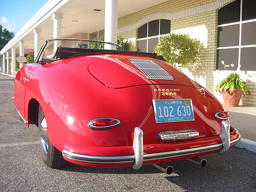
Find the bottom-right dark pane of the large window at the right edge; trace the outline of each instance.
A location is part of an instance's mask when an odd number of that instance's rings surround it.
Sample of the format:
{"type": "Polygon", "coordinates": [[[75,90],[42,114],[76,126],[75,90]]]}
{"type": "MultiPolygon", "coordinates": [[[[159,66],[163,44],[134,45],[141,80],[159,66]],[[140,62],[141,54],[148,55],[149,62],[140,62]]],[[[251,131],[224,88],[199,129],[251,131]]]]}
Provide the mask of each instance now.
{"type": "Polygon", "coordinates": [[[240,69],[256,71],[256,47],[241,48],[240,69]]]}

